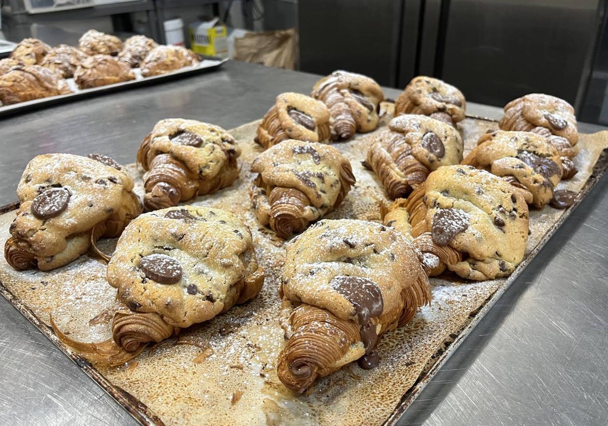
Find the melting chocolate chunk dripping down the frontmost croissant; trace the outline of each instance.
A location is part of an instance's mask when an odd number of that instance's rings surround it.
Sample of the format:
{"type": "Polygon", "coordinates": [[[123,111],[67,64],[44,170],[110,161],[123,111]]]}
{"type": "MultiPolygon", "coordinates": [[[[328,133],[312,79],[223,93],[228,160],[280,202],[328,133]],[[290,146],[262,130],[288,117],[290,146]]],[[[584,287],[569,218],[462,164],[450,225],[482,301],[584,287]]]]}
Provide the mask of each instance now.
{"type": "Polygon", "coordinates": [[[380,287],[370,279],[339,275],[331,280],[330,286],[353,304],[359,324],[366,325],[371,318],[382,314],[384,302],[380,287]]]}

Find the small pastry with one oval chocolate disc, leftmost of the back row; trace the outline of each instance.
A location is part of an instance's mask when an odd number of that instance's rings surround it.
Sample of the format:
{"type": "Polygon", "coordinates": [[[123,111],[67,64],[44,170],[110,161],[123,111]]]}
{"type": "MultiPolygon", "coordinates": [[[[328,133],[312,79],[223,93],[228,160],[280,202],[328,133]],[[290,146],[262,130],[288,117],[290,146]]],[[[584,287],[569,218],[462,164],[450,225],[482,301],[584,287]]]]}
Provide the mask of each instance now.
{"type": "Polygon", "coordinates": [[[286,139],[325,142],[330,138],[330,111],[323,102],[299,93],[283,93],[264,116],[255,142],[264,148],[286,139]]]}

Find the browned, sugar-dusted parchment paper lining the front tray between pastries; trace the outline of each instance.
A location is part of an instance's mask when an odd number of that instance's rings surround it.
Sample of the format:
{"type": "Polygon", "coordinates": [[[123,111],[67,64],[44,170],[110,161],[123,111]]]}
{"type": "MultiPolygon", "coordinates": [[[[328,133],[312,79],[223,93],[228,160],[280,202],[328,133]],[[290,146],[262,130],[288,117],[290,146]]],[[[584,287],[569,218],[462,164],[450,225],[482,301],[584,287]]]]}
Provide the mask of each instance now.
{"type": "MultiPolygon", "coordinates": [[[[133,396],[134,399],[122,400],[122,403],[143,422],[165,425],[382,424],[421,372],[435,363],[438,354],[470,323],[471,314],[477,312],[507,279],[467,282],[451,275],[431,279],[434,284],[431,306],[421,309],[412,323],[382,336],[378,345],[381,357],[378,368],[364,371],[353,363],[319,380],[308,394],[292,394],[275,374],[277,355],[284,342],[278,323],[280,302],[277,296],[284,250],[280,239],[258,225],[248,195],[254,177],[249,166],[260,152],[253,142],[257,124],[253,122],[232,130],[243,148],[240,179],[232,187],[212,196],[199,197],[192,204],[236,212],[249,225],[258,261],[266,272],[260,296],[208,323],[182,330],[177,337],[149,347],[126,365],[99,368],[98,374],[86,366],[88,372],[119,400],[117,395],[133,396]],[[146,410],[142,404],[147,406],[146,410]],[[143,411],[146,414],[142,414],[143,411]]],[[[465,155],[474,147],[480,134],[496,126],[496,123],[477,119],[462,122],[465,155]]],[[[385,131],[385,127],[376,131],[385,131]]],[[[573,180],[561,183],[559,189],[584,187],[593,165],[602,150],[608,147],[607,135],[608,132],[581,135],[580,153],[575,159],[579,173],[573,180]]],[[[373,134],[358,134],[350,142],[335,144],[350,159],[357,183],[330,218],[379,220],[378,203],[385,199],[384,191],[373,173],[361,166],[372,138],[373,134]]],[[[142,172],[134,165],[129,170],[137,176],[137,189],[141,193],[142,172]]],[[[548,206],[542,211],[531,211],[528,254],[562,214],[563,211],[548,206]]],[[[14,217],[15,212],[0,216],[2,242],[9,236],[9,225],[14,217]]],[[[115,243],[105,240],[100,247],[111,253],[115,243]]],[[[52,314],[60,329],[69,332],[71,338],[100,341],[110,336],[112,313],[118,305],[114,299],[116,290],[105,281],[105,264],[101,260],[81,256],[55,271],[17,272],[2,257],[0,281],[8,290],[4,291],[5,295],[14,296],[14,304],[30,310],[40,319],[39,327],[44,328],[42,323],[48,326],[49,314],[52,314]]],[[[67,352],[72,354],[69,349],[67,352]]],[[[77,358],[77,354],[72,355],[77,358]]]]}

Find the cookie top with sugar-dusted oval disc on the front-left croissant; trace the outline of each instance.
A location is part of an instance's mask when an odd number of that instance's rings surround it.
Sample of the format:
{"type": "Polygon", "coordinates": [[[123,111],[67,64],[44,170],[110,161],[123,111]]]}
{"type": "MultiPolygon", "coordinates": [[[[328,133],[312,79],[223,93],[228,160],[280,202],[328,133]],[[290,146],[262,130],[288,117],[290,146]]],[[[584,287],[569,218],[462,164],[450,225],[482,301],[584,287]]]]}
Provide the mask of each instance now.
{"type": "Polygon", "coordinates": [[[107,278],[131,310],[188,327],[254,298],[264,281],[249,229],[221,209],[178,206],[126,227],[107,278]]]}

